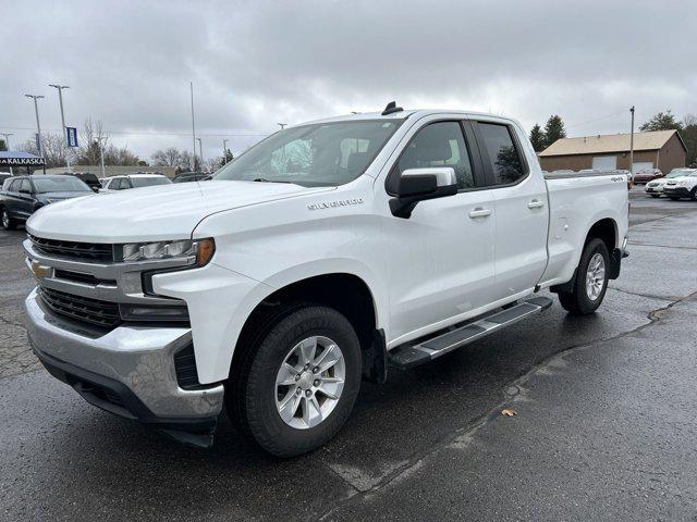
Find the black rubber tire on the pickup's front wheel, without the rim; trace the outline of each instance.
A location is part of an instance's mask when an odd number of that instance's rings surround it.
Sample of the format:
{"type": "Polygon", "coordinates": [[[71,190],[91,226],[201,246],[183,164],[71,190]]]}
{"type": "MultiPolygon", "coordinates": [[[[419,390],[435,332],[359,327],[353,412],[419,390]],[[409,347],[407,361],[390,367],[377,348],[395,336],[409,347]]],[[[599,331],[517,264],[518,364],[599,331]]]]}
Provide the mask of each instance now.
{"type": "MultiPolygon", "coordinates": [[[[330,440],[348,419],[360,388],[360,344],[351,323],[338,311],[307,304],[281,314],[259,333],[233,371],[225,407],[246,438],[276,457],[294,457],[330,440]],[[333,410],[313,427],[296,428],[277,409],[276,378],[289,352],[311,336],[332,339],[345,364],[344,387],[333,410]],[[232,391],[232,393],[230,393],[232,391]]],[[[302,408],[298,409],[301,411],[302,408]]]]}

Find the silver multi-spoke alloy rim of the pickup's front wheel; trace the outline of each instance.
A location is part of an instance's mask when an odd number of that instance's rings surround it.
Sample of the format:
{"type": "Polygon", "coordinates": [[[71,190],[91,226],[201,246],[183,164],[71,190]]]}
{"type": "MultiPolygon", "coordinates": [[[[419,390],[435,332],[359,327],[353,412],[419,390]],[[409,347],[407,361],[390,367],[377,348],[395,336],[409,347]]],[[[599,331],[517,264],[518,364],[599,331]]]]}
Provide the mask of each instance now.
{"type": "Polygon", "coordinates": [[[303,339],[285,356],[276,377],[276,408],[289,426],[314,427],[339,403],[346,378],[341,348],[329,337],[303,339]]]}

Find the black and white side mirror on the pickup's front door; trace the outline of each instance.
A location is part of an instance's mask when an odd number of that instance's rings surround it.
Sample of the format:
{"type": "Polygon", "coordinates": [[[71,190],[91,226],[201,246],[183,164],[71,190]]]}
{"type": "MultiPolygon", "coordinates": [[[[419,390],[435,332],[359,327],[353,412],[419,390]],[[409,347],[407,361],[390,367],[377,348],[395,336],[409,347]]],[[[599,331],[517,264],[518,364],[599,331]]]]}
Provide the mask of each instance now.
{"type": "Polygon", "coordinates": [[[419,201],[457,194],[457,178],[452,166],[407,169],[402,172],[396,198],[390,200],[395,217],[409,219],[419,201]]]}

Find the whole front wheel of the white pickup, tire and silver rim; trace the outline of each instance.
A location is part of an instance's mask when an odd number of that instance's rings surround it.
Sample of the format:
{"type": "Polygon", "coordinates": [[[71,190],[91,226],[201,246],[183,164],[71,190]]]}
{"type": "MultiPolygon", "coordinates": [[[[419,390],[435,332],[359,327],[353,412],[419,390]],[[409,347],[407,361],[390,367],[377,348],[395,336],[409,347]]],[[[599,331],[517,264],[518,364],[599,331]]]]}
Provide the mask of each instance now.
{"type": "Polygon", "coordinates": [[[294,457],[331,439],[360,386],[358,337],[338,311],[294,309],[259,336],[240,372],[228,410],[242,432],[277,457],[294,457]]]}

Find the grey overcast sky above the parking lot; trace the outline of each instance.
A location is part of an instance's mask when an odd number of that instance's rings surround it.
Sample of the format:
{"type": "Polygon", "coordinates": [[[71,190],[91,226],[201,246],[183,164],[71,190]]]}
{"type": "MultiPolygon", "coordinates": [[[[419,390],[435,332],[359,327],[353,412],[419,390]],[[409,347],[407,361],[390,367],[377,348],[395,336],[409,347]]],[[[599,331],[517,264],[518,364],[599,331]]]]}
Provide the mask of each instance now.
{"type": "Polygon", "coordinates": [[[694,0],[0,0],[0,132],[101,120],[144,158],[191,147],[194,82],[204,154],[350,111],[455,108],[526,128],[560,114],[572,136],[697,113],[694,0]]]}

